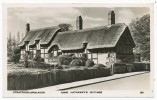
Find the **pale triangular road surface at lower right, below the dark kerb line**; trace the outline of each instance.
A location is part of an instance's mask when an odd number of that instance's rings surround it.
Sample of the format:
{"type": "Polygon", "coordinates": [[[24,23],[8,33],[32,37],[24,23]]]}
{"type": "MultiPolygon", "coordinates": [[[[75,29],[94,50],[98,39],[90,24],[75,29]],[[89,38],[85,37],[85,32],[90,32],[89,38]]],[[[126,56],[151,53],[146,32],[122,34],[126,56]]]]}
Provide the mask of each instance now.
{"type": "Polygon", "coordinates": [[[150,90],[150,73],[71,88],[68,90],[150,90]]]}

